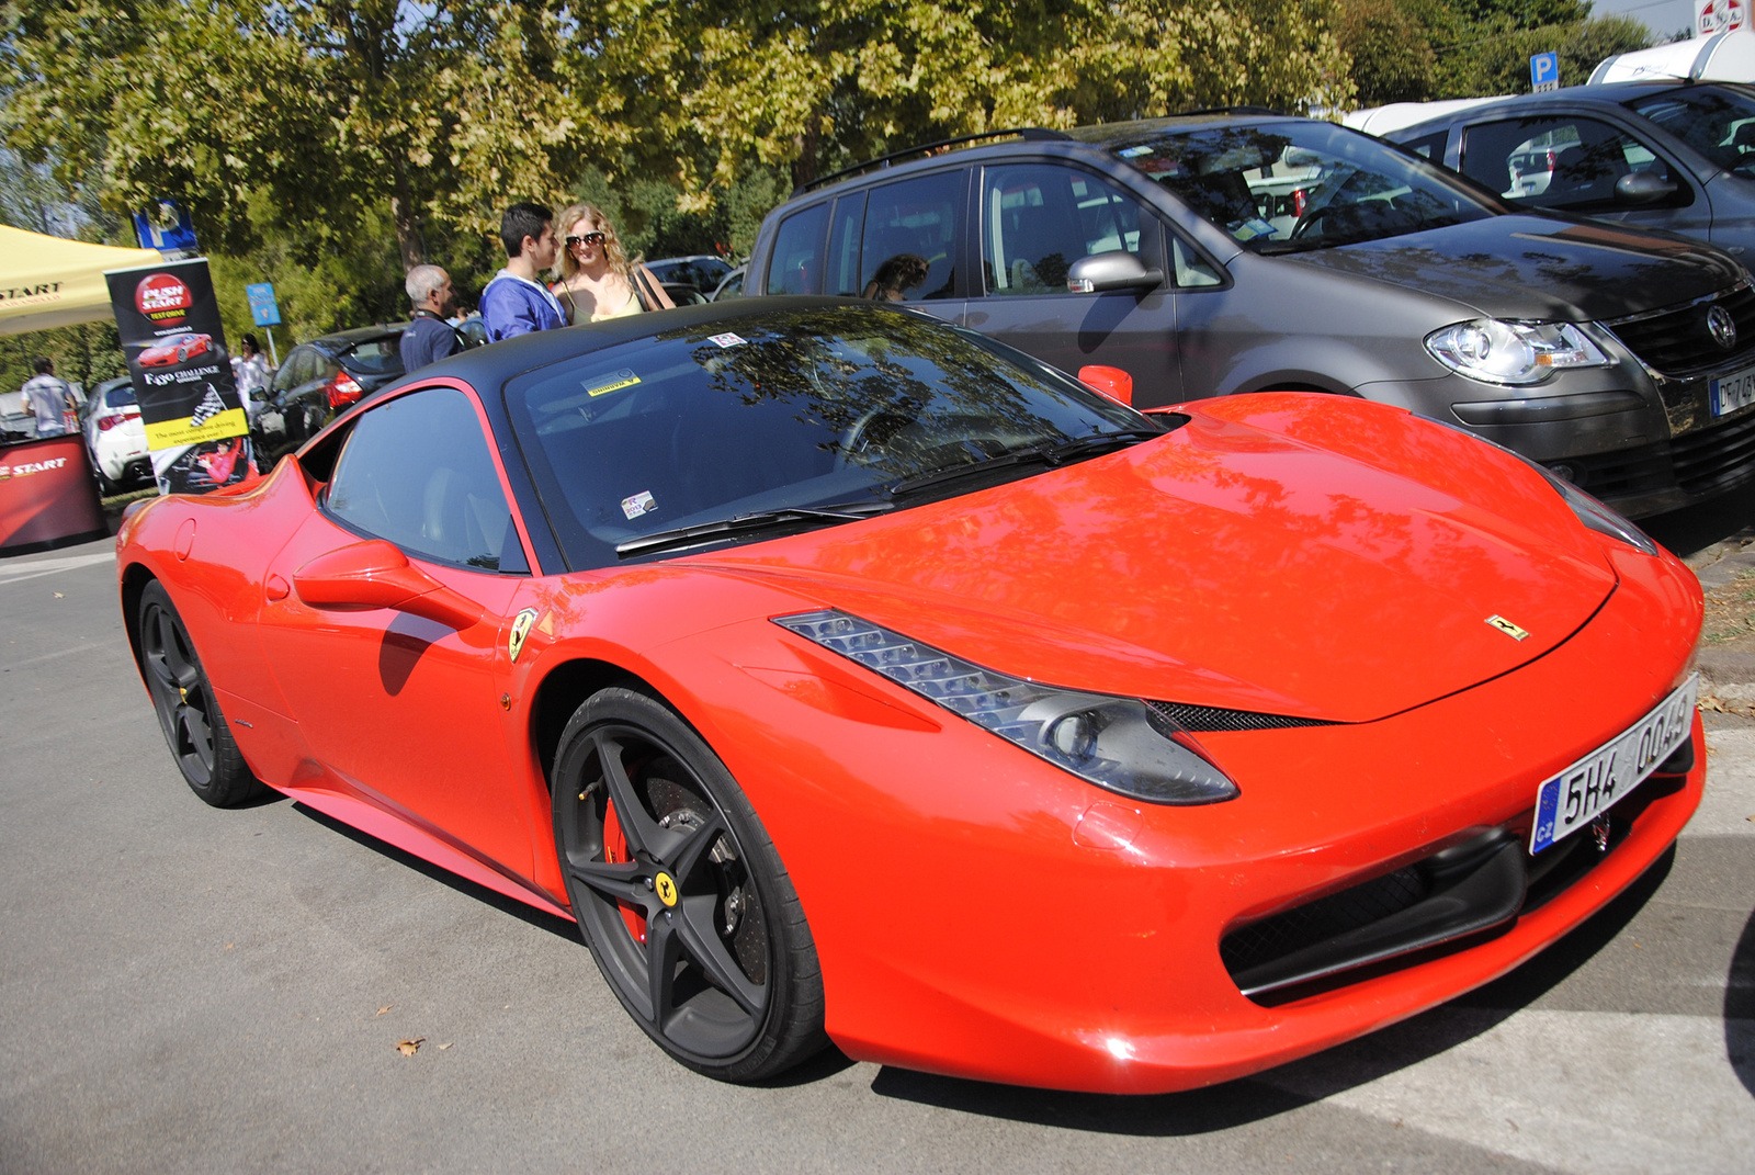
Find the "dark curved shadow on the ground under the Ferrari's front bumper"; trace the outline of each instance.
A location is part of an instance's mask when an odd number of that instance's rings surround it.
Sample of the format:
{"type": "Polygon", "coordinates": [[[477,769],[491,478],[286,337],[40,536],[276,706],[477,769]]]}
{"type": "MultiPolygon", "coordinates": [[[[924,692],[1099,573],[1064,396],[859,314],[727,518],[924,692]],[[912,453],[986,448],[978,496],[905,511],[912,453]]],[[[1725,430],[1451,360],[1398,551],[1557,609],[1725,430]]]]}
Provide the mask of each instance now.
{"type": "MultiPolygon", "coordinates": [[[[1671,847],[1595,917],[1518,970],[1467,996],[1302,1061],[1223,1085],[1178,1094],[1069,1094],[885,1066],[872,1080],[872,1092],[944,1110],[1104,1135],[1207,1135],[1271,1119],[1436,1057],[1504,1022],[1585,966],[1627,929],[1669,876],[1674,861],[1676,850],[1671,847]]],[[[1737,948],[1744,975],[1755,975],[1751,954],[1755,954],[1755,920],[1737,948]]],[[[1734,964],[1732,978],[1736,975],[1734,964]]],[[[1741,992],[1743,999],[1755,1003],[1755,991],[1748,987],[1732,985],[1730,992],[1732,996],[1741,992]]],[[[1729,1012],[1727,998],[1727,1015],[1729,1012]]],[[[1744,1010],[1744,1015],[1750,1012],[1744,1010]]],[[[1744,1059],[1736,1061],[1734,1045],[1732,1064],[1737,1066],[1743,1082],[1750,1084],[1755,1068],[1755,1031],[1750,1020],[1727,1019],[1727,1033],[1739,1022],[1744,1059]]]]}

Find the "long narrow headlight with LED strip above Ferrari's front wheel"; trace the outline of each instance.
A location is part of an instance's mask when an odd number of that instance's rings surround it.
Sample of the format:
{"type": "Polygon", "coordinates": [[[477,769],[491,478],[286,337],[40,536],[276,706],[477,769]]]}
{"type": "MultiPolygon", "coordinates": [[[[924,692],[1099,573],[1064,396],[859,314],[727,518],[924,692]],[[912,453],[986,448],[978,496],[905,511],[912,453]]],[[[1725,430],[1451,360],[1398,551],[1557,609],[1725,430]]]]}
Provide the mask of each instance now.
{"type": "Polygon", "coordinates": [[[993,673],[841,611],[776,616],[774,624],[1111,792],[1151,804],[1213,804],[1239,794],[1192,734],[1137,697],[993,673]]]}

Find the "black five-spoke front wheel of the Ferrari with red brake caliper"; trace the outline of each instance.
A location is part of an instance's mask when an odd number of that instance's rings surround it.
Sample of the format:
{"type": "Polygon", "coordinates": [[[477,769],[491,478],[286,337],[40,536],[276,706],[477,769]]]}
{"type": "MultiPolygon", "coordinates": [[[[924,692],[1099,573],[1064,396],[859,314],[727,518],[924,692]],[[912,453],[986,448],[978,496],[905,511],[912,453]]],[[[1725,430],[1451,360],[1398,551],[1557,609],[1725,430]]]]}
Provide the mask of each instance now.
{"type": "Polygon", "coordinates": [[[720,1080],[816,1052],[823,985],[799,896],[742,789],[662,703],[574,713],[555,759],[555,847],[604,978],[672,1057],[720,1080]]]}

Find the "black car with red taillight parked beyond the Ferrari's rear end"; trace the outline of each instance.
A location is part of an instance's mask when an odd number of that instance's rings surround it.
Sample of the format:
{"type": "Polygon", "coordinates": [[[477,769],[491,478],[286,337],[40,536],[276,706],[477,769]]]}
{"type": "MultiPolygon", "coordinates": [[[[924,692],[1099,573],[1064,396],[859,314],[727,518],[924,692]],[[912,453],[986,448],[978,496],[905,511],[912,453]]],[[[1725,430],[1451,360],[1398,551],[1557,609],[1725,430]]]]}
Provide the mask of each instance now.
{"type": "Polygon", "coordinates": [[[314,437],[335,413],[402,376],[407,323],[337,330],[286,353],[274,383],[251,397],[249,439],[263,471],[314,437]]]}

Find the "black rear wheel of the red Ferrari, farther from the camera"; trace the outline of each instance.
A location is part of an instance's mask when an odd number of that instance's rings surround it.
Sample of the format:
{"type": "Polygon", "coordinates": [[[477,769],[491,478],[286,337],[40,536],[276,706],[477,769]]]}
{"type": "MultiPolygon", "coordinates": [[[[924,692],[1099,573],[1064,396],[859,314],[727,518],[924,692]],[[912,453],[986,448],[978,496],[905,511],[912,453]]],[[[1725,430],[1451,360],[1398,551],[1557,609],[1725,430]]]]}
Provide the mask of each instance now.
{"type": "Polygon", "coordinates": [[[158,725],[190,790],[214,808],[235,808],[269,796],[251,775],[219,713],[195,643],[170,594],[156,580],[140,592],[140,664],[158,725]]]}

